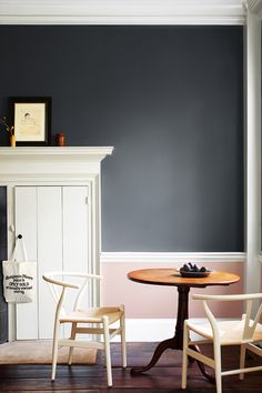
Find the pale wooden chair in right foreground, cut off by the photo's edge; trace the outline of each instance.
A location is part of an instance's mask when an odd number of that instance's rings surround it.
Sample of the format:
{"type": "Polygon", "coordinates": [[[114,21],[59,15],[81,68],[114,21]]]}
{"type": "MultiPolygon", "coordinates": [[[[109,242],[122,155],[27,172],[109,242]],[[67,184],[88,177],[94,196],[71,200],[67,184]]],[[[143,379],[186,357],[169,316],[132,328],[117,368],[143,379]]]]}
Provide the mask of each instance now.
{"type": "Polygon", "coordinates": [[[262,293],[254,294],[236,294],[236,295],[193,295],[193,299],[201,300],[208,316],[208,323],[196,324],[190,320],[184,321],[184,335],[183,335],[183,363],[182,363],[182,389],[187,387],[187,371],[188,371],[188,356],[193,357],[200,362],[214,369],[216,393],[222,392],[222,376],[240,374],[240,380],[243,380],[244,373],[262,370],[262,366],[245,367],[245,351],[250,350],[256,355],[262,356],[262,349],[254,345],[254,343],[262,341],[262,324],[259,323],[262,313],[262,293]],[[244,301],[245,314],[241,320],[234,321],[216,321],[215,316],[208,305],[209,301],[244,301]],[[254,305],[260,306],[258,312],[254,312],[254,305]],[[252,320],[252,314],[254,318],[252,320]],[[202,340],[190,340],[190,331],[199,334],[202,340]],[[213,359],[194,351],[193,345],[213,342],[213,359]],[[221,346],[222,345],[240,345],[240,369],[223,371],[221,369],[221,346]]]}

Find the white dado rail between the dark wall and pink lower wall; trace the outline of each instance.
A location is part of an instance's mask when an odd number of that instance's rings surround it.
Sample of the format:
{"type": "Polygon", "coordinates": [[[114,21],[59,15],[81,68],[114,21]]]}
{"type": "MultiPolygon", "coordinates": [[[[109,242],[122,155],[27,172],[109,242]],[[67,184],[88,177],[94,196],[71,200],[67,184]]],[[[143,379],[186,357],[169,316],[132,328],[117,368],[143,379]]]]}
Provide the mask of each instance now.
{"type": "Polygon", "coordinates": [[[101,263],[245,262],[244,252],[102,252],[101,263]]]}

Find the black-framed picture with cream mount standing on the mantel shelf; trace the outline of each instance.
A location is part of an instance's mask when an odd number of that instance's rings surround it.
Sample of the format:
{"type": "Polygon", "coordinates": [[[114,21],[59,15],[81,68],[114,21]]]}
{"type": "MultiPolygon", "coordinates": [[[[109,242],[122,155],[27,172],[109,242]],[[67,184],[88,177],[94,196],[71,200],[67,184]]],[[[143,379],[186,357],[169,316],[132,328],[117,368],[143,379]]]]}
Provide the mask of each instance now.
{"type": "Polygon", "coordinates": [[[17,145],[48,145],[51,135],[51,98],[10,99],[17,145]]]}

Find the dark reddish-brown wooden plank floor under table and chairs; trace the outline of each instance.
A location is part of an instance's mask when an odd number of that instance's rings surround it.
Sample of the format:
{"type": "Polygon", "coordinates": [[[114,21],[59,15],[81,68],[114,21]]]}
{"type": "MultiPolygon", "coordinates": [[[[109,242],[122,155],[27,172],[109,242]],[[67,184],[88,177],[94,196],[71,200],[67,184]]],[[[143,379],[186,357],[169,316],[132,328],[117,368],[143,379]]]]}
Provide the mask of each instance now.
{"type": "MultiPolygon", "coordinates": [[[[194,363],[189,370],[188,389],[182,391],[181,352],[167,351],[159,363],[148,373],[139,376],[130,375],[130,367],[145,365],[151,359],[155,343],[128,343],[128,369],[120,366],[120,345],[112,344],[113,387],[107,387],[103,354],[99,351],[95,365],[58,366],[57,379],[50,381],[50,365],[0,365],[0,392],[56,392],[56,393],[98,393],[98,392],[208,392],[214,393],[214,385],[209,383],[194,363]]],[[[210,353],[210,349],[208,352],[210,353]]],[[[208,353],[206,352],[206,353],[208,353]]],[[[224,349],[224,369],[238,366],[238,350],[224,349]]],[[[249,356],[249,365],[258,365],[259,360],[249,356]]],[[[262,392],[262,373],[245,374],[244,381],[236,375],[223,379],[223,393],[262,392]]]]}

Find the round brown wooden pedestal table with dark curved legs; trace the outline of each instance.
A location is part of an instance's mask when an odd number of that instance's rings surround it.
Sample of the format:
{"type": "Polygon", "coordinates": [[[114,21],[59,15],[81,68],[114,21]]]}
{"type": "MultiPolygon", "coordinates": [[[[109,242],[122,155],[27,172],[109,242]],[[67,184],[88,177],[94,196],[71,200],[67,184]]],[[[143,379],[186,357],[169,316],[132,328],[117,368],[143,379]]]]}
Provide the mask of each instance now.
{"type": "MultiPolygon", "coordinates": [[[[205,288],[210,285],[230,285],[240,280],[236,274],[228,272],[212,272],[206,278],[182,278],[175,269],[144,269],[135,270],[128,273],[128,278],[132,281],[142,284],[153,284],[153,285],[171,285],[177,286],[179,292],[179,306],[177,313],[177,325],[174,336],[164,340],[157,346],[153,356],[148,365],[132,367],[131,374],[135,375],[150,370],[160,359],[162,353],[167,349],[182,350],[183,349],[183,325],[184,320],[189,318],[189,292],[190,288],[205,288]]],[[[194,346],[195,351],[200,351],[199,347],[194,346]]],[[[211,382],[214,377],[206,373],[203,363],[198,362],[199,367],[204,376],[206,376],[211,382]]]]}

